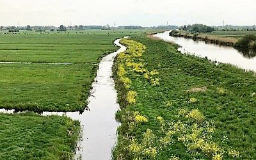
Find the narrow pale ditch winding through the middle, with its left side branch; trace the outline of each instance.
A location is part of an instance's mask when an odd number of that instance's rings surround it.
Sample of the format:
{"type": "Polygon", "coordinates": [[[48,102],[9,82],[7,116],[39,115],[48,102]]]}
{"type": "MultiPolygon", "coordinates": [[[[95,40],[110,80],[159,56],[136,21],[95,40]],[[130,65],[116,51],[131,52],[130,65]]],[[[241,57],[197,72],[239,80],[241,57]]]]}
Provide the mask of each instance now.
{"type": "MultiPolygon", "coordinates": [[[[112,78],[112,67],[116,55],[126,50],[120,44],[120,39],[115,40],[119,46],[118,51],[108,54],[99,64],[97,76],[92,84],[92,91],[89,97],[88,111],[82,114],[79,112],[44,112],[42,115],[67,115],[73,120],[79,120],[82,127],[82,138],[77,144],[75,159],[111,159],[111,153],[117,140],[116,129],[118,122],[115,120],[117,103],[117,92],[112,78]]],[[[1,113],[13,113],[14,110],[0,109],[1,113]]]]}

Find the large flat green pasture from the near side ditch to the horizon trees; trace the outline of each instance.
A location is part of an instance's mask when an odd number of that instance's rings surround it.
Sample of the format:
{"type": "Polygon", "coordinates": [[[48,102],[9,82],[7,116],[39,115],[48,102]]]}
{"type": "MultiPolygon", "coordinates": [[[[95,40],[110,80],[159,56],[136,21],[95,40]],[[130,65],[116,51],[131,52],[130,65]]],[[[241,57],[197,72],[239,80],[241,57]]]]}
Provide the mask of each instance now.
{"type": "Polygon", "coordinates": [[[97,64],[118,49],[113,41],[147,32],[151,31],[1,32],[0,62],[22,63],[0,63],[0,108],[83,111],[97,64]]]}

